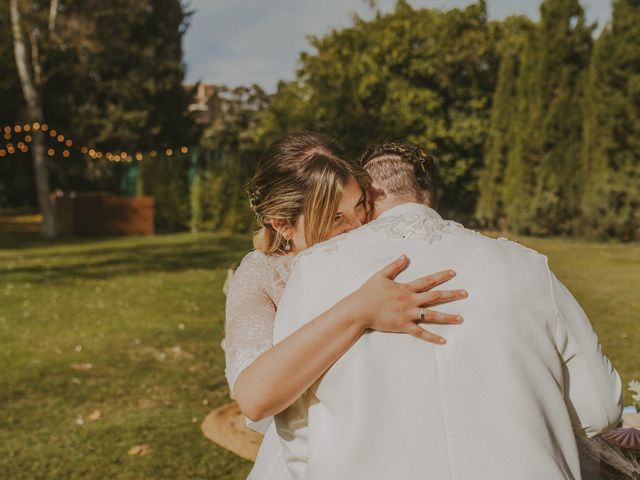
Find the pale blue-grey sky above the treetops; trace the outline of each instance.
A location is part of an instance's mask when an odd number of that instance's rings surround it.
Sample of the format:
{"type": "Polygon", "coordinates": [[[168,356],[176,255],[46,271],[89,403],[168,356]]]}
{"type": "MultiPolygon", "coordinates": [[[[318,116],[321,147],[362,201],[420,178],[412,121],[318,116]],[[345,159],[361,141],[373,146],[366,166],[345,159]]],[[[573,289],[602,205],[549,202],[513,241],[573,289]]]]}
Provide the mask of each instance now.
{"type": "MultiPolygon", "coordinates": [[[[353,13],[373,16],[364,0],[184,0],[192,11],[184,38],[186,81],[235,87],[257,83],[275,91],[278,80],[295,76],[307,35],[323,35],[351,25],[353,13]]],[[[383,12],[395,0],[378,0],[383,12]]],[[[409,0],[413,7],[464,7],[469,0],[409,0]]],[[[587,19],[599,29],[611,16],[610,0],[582,0],[587,19]]],[[[536,0],[488,0],[489,18],[522,14],[537,20],[536,0]]],[[[598,31],[599,31],[598,29],[598,31]]]]}

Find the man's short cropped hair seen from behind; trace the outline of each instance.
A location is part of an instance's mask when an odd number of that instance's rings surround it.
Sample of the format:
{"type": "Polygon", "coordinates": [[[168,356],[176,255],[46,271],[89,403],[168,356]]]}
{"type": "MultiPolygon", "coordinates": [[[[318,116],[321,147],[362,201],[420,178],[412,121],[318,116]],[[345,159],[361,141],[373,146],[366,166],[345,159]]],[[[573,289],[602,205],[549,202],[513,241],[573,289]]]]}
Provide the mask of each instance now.
{"type": "Polygon", "coordinates": [[[360,164],[385,193],[438,205],[437,171],[433,157],[413,143],[383,143],[365,152],[360,164]]]}

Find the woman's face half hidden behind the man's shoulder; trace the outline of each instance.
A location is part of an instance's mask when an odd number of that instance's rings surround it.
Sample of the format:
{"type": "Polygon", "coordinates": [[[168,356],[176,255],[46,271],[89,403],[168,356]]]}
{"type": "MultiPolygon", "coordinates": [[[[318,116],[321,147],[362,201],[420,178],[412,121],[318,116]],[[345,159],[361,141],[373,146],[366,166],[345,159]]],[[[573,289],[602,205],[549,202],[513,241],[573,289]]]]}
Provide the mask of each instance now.
{"type": "MultiPolygon", "coordinates": [[[[367,211],[365,204],[366,198],[360,184],[355,178],[349,178],[349,182],[342,193],[342,200],[338,205],[338,211],[333,219],[333,226],[329,237],[335,237],[366,223],[367,211]]],[[[304,250],[307,248],[304,237],[304,215],[301,215],[298,219],[292,242],[296,250],[304,250]]]]}

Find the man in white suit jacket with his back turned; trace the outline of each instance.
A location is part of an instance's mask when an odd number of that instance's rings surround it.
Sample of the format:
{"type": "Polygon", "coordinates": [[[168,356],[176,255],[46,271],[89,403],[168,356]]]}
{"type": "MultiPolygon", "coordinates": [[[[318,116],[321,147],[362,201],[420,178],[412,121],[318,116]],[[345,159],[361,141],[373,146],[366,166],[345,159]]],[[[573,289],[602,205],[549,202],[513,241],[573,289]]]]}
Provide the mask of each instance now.
{"type": "Polygon", "coordinates": [[[289,468],[296,480],[579,479],[574,432],[618,423],[620,378],[545,256],[430,208],[430,162],[398,144],[366,159],[375,219],[300,254],[274,341],[401,254],[401,282],[456,271],[447,287],[469,298],[440,310],[465,323],[445,346],[365,332],[276,416],[289,468]]]}

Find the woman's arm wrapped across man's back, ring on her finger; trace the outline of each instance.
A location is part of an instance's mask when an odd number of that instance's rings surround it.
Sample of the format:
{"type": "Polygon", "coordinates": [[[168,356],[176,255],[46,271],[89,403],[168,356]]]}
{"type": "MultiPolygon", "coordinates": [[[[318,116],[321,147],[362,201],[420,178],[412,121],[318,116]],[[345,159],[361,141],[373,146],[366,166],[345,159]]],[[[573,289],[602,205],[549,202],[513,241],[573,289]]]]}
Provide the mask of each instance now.
{"type": "MultiPolygon", "coordinates": [[[[253,355],[245,355],[239,362],[230,358],[234,356],[234,351],[237,352],[234,345],[243,336],[239,329],[242,329],[244,324],[250,336],[254,337],[252,343],[260,344],[256,338],[256,328],[264,335],[267,331],[272,335],[275,307],[271,304],[268,310],[264,298],[258,304],[255,303],[256,297],[252,299],[253,303],[245,302],[250,299],[238,299],[236,293],[239,292],[236,290],[234,293],[232,289],[241,285],[234,282],[227,302],[225,343],[228,364],[232,365],[232,371],[228,371],[229,384],[232,385],[232,395],[242,413],[249,419],[258,421],[287,408],[320,378],[367,328],[409,333],[431,343],[445,343],[442,337],[427,332],[415,323],[420,317],[420,306],[464,298],[466,294],[458,290],[427,291],[449,280],[453,276],[449,271],[422,277],[407,284],[394,282],[393,279],[406,266],[406,257],[393,262],[372,276],[356,292],[278,344],[269,348],[267,344],[271,342],[270,336],[268,340],[264,339],[262,347],[250,348],[253,355]],[[248,314],[247,308],[252,310],[251,314],[248,314]],[[264,317],[258,319],[256,312],[260,312],[258,315],[264,317]],[[267,319],[266,316],[270,318],[267,319]],[[261,353],[256,355],[260,349],[261,353]]],[[[455,315],[431,310],[425,311],[425,317],[433,323],[460,323],[462,320],[455,315]]]]}

